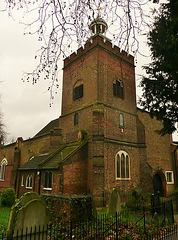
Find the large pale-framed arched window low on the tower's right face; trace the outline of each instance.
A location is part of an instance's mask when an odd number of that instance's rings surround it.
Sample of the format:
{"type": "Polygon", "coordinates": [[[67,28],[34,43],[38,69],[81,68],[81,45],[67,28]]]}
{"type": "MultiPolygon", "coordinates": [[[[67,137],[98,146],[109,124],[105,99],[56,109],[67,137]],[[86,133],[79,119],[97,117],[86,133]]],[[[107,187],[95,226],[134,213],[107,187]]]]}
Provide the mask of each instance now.
{"type": "Polygon", "coordinates": [[[130,178],[130,158],[124,151],[119,151],[115,158],[116,179],[130,178]]]}

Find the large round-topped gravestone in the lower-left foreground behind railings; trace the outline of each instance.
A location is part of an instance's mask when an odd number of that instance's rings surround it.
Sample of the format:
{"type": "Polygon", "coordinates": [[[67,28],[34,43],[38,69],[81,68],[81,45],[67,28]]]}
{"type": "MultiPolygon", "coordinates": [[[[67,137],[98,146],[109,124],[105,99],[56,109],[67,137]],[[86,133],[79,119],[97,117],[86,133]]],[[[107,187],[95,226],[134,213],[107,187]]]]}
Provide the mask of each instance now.
{"type": "Polygon", "coordinates": [[[12,207],[8,235],[17,239],[45,239],[49,209],[36,193],[24,194],[12,207]]]}

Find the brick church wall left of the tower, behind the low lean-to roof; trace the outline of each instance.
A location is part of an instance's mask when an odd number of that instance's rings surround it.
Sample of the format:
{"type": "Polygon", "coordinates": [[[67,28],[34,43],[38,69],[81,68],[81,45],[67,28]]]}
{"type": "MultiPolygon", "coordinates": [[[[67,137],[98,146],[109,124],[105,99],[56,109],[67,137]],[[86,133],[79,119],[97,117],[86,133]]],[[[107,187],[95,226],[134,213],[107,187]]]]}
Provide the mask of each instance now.
{"type": "MultiPolygon", "coordinates": [[[[61,142],[61,136],[55,135],[55,132],[51,132],[50,134],[45,135],[43,137],[37,137],[33,139],[28,139],[25,141],[23,141],[22,138],[19,138],[16,143],[9,144],[7,146],[0,148],[0,162],[4,159],[4,157],[8,161],[8,165],[6,166],[6,169],[8,169],[8,171],[6,171],[5,173],[5,178],[7,178],[8,180],[7,181],[5,180],[4,182],[0,182],[0,188],[2,187],[4,188],[4,186],[5,188],[8,188],[8,187],[15,188],[15,181],[16,183],[18,183],[18,180],[16,179],[17,177],[14,171],[16,171],[19,166],[24,165],[31,156],[52,152],[54,149],[56,149],[56,147],[59,147],[60,142],[61,142]],[[16,163],[15,163],[14,153],[17,147],[20,150],[20,155],[19,155],[19,159],[16,159],[16,163]],[[13,174],[11,170],[13,171],[13,174]],[[12,177],[11,180],[10,180],[10,175],[12,177]]],[[[22,190],[22,193],[20,192],[20,195],[25,192],[26,192],[26,189],[22,190]]]]}

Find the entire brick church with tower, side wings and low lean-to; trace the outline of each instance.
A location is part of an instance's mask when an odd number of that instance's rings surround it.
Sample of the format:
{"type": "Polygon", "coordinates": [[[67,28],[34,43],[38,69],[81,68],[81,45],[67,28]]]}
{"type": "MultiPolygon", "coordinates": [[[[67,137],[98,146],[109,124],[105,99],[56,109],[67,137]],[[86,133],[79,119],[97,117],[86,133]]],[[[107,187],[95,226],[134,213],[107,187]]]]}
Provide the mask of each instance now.
{"type": "Polygon", "coordinates": [[[122,196],[174,191],[176,146],[137,108],[134,58],[112,46],[99,16],[90,30],[84,48],[64,60],[61,116],[0,147],[0,191],[92,195],[97,205],[114,187],[122,196]]]}

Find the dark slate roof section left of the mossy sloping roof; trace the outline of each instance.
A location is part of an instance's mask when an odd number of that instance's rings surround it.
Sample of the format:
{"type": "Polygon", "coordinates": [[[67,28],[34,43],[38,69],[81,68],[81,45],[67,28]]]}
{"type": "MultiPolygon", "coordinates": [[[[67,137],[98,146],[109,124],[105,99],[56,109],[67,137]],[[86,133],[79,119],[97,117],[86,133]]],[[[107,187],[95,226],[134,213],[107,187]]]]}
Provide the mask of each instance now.
{"type": "Polygon", "coordinates": [[[49,154],[38,155],[29,159],[23,166],[19,167],[19,170],[35,170],[38,169],[38,164],[46,159],[49,154]]]}

